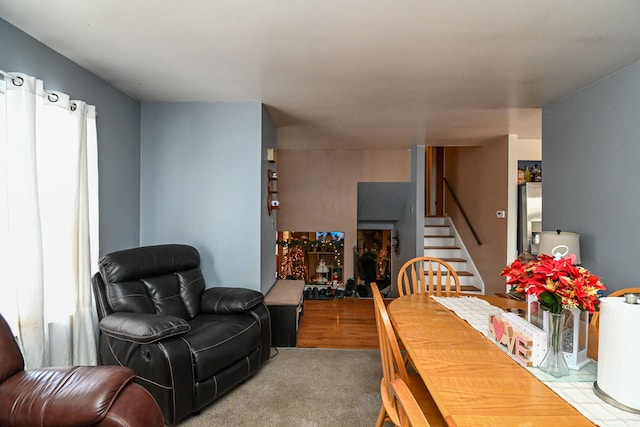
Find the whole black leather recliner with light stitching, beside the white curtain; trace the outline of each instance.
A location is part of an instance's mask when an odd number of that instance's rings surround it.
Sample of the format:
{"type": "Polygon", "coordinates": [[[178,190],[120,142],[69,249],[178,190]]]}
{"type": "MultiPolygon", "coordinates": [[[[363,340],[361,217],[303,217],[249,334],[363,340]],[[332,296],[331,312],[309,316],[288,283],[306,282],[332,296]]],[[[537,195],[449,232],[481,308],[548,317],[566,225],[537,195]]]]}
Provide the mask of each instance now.
{"type": "Polygon", "coordinates": [[[209,288],[198,251],[158,245],[107,254],[93,277],[100,363],[121,365],[175,424],[252,376],[269,358],[263,294],[209,288]]]}

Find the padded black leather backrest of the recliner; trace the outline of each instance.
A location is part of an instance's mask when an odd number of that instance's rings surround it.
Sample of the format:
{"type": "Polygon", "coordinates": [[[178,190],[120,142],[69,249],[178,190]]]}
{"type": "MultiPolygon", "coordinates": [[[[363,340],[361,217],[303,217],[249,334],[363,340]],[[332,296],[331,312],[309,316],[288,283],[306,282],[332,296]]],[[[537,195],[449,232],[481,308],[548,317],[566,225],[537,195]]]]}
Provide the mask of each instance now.
{"type": "Polygon", "coordinates": [[[185,320],[200,313],[205,283],[200,254],[191,246],[169,244],[112,252],[100,258],[99,268],[104,300],[113,312],[169,314],[185,320]]]}

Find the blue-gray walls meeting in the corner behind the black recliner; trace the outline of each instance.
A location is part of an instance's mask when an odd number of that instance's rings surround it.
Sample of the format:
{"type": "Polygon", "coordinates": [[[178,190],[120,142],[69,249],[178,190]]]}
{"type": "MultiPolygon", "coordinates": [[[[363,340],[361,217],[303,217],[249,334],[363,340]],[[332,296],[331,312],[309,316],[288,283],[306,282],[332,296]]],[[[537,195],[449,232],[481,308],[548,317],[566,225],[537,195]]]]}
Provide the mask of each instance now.
{"type": "Polygon", "coordinates": [[[263,191],[266,148],[276,146],[276,131],[261,104],[147,104],[143,122],[138,101],[2,19],[0,69],[43,79],[46,89],[96,106],[101,254],[189,241],[201,250],[209,286],[269,289],[275,216],[267,214],[263,191]],[[204,120],[187,120],[190,109],[204,120]]]}

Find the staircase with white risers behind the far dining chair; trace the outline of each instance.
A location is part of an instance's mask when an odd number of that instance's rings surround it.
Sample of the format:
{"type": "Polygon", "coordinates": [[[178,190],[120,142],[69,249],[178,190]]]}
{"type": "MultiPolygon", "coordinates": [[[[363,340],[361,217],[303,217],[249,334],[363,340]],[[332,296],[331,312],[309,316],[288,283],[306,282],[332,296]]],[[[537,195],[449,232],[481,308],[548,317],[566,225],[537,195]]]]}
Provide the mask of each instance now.
{"type": "Polygon", "coordinates": [[[484,282],[449,217],[427,217],[424,222],[424,256],[440,258],[458,273],[461,292],[482,294],[484,282]]]}

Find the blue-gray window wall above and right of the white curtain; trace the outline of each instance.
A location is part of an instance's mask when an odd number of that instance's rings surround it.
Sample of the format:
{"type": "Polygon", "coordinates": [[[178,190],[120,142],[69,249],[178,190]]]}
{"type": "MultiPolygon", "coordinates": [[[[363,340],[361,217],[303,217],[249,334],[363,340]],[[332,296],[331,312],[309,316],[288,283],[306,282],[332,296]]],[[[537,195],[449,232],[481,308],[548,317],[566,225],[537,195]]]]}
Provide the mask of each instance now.
{"type": "Polygon", "coordinates": [[[0,19],[0,69],[44,80],[96,106],[100,181],[100,253],[138,245],[140,104],[0,19]]]}

